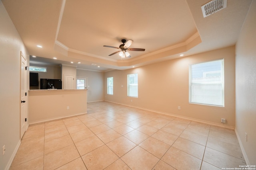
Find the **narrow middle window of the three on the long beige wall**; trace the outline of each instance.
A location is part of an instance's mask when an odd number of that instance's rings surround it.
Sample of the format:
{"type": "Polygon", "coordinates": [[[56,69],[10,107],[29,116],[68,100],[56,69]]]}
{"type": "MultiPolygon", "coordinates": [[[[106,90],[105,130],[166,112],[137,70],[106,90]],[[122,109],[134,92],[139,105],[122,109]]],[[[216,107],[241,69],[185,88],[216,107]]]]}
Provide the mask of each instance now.
{"type": "Polygon", "coordinates": [[[127,75],[127,95],[138,97],[138,73],[127,75]]]}

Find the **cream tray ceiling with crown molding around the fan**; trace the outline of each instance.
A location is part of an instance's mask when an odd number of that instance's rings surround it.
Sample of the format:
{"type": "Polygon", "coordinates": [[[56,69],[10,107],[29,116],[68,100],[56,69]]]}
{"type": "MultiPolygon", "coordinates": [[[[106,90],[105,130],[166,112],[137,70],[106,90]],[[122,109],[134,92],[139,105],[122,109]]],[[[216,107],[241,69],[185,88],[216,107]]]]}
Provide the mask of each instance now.
{"type": "Polygon", "coordinates": [[[206,18],[201,6],[209,0],[2,2],[28,53],[37,56],[32,63],[73,61],[78,68],[107,71],[235,45],[252,0],[228,0],[227,8],[206,18]],[[129,51],[132,57],[123,60],[108,56],[118,49],[103,45],[119,47],[121,39],[146,50],[129,51]]]}

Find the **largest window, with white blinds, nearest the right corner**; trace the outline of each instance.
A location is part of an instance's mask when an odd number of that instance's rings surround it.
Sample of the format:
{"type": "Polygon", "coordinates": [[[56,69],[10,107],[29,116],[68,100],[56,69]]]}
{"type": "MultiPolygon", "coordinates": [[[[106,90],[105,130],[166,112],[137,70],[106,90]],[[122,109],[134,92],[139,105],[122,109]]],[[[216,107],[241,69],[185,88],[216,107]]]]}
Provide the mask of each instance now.
{"type": "Polygon", "coordinates": [[[189,65],[189,102],[224,106],[224,59],[189,65]]]}

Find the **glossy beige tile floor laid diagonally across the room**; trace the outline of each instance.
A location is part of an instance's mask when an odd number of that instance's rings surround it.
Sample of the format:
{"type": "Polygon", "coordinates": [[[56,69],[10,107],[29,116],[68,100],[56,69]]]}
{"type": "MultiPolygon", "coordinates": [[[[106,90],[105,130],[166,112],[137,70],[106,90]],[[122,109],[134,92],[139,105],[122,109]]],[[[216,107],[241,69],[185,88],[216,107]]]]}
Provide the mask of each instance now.
{"type": "Polygon", "coordinates": [[[109,102],[30,125],[10,170],[218,170],[246,165],[234,130],[109,102]]]}

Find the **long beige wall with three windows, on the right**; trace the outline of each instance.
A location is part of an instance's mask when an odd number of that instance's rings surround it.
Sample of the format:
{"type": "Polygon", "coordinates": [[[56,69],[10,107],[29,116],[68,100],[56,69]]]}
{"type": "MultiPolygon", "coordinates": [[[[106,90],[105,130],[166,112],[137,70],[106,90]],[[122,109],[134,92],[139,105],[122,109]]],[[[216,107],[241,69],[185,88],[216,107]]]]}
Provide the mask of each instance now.
{"type": "Polygon", "coordinates": [[[189,117],[230,128],[235,126],[234,46],[130,70],[106,72],[104,84],[106,101],[189,117]],[[189,104],[189,64],[221,58],[224,58],[225,69],[225,107],[189,104]],[[131,73],[138,73],[138,98],[127,97],[127,74],[131,73]],[[108,95],[106,80],[112,76],[114,95],[108,95]],[[178,110],[178,106],[181,110],[178,110]],[[226,119],[226,124],[220,123],[221,118],[226,119]]]}

